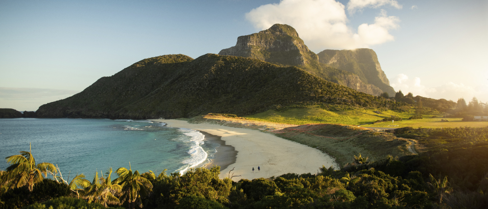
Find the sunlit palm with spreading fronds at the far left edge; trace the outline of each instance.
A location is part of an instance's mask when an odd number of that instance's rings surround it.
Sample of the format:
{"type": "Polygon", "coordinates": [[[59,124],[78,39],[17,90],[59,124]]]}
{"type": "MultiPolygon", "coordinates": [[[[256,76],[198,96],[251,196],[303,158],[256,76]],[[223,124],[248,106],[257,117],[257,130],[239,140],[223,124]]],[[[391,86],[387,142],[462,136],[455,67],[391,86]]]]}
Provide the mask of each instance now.
{"type": "Polygon", "coordinates": [[[29,143],[29,152],[20,151],[21,154],[8,156],[5,159],[11,164],[7,168],[7,173],[1,179],[1,185],[12,182],[13,187],[22,187],[28,185],[29,191],[32,191],[34,185],[41,182],[47,173],[56,173],[56,167],[51,163],[40,163],[36,165],[36,160],[32,156],[31,145],[29,143]],[[44,177],[42,177],[44,174],[44,177]]]}

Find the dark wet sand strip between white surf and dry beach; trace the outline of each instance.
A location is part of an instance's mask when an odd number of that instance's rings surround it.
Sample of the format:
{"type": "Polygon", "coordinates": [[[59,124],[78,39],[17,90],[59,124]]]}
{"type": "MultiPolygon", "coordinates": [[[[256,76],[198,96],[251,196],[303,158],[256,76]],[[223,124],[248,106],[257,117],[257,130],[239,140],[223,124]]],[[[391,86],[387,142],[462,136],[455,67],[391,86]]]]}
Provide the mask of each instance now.
{"type": "Polygon", "coordinates": [[[220,171],[224,171],[229,165],[236,163],[236,149],[230,145],[226,145],[221,136],[206,133],[204,131],[199,132],[205,136],[204,140],[211,141],[220,145],[219,147],[215,148],[217,152],[215,152],[212,159],[209,159],[210,162],[207,162],[201,168],[210,169],[212,168],[212,166],[220,166],[220,171]]]}

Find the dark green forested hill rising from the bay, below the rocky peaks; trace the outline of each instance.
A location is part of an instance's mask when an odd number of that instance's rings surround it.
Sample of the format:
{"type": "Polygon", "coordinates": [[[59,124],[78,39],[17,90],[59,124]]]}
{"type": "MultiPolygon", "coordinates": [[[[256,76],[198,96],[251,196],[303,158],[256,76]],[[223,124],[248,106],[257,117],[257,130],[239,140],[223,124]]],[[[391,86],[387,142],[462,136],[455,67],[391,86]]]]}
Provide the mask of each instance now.
{"type": "Polygon", "coordinates": [[[325,81],[294,66],[206,54],[143,59],[81,93],[42,105],[37,117],[181,118],[247,115],[290,105],[394,107],[396,103],[325,81]]]}

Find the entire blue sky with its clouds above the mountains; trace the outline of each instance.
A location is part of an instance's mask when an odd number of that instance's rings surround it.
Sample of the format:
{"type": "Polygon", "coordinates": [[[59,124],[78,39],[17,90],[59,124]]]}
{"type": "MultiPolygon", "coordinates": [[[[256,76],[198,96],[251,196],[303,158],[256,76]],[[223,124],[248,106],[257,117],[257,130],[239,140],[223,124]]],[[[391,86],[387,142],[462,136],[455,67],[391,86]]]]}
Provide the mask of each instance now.
{"type": "Polygon", "coordinates": [[[0,108],[35,111],[148,57],[275,23],[310,50],[370,48],[395,91],[488,101],[487,0],[0,1],[0,108]]]}

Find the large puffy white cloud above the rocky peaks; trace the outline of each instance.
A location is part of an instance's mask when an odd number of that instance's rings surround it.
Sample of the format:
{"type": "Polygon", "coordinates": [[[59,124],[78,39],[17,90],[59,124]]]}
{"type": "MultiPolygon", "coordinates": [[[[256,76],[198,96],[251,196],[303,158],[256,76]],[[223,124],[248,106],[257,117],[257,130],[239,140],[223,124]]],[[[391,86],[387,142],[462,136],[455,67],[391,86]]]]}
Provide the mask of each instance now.
{"type": "Polygon", "coordinates": [[[312,50],[368,48],[394,40],[389,34],[400,19],[382,10],[373,24],[361,24],[357,33],[347,26],[345,6],[335,0],[282,0],[252,9],[245,15],[259,30],[275,23],[294,27],[312,50]]]}

